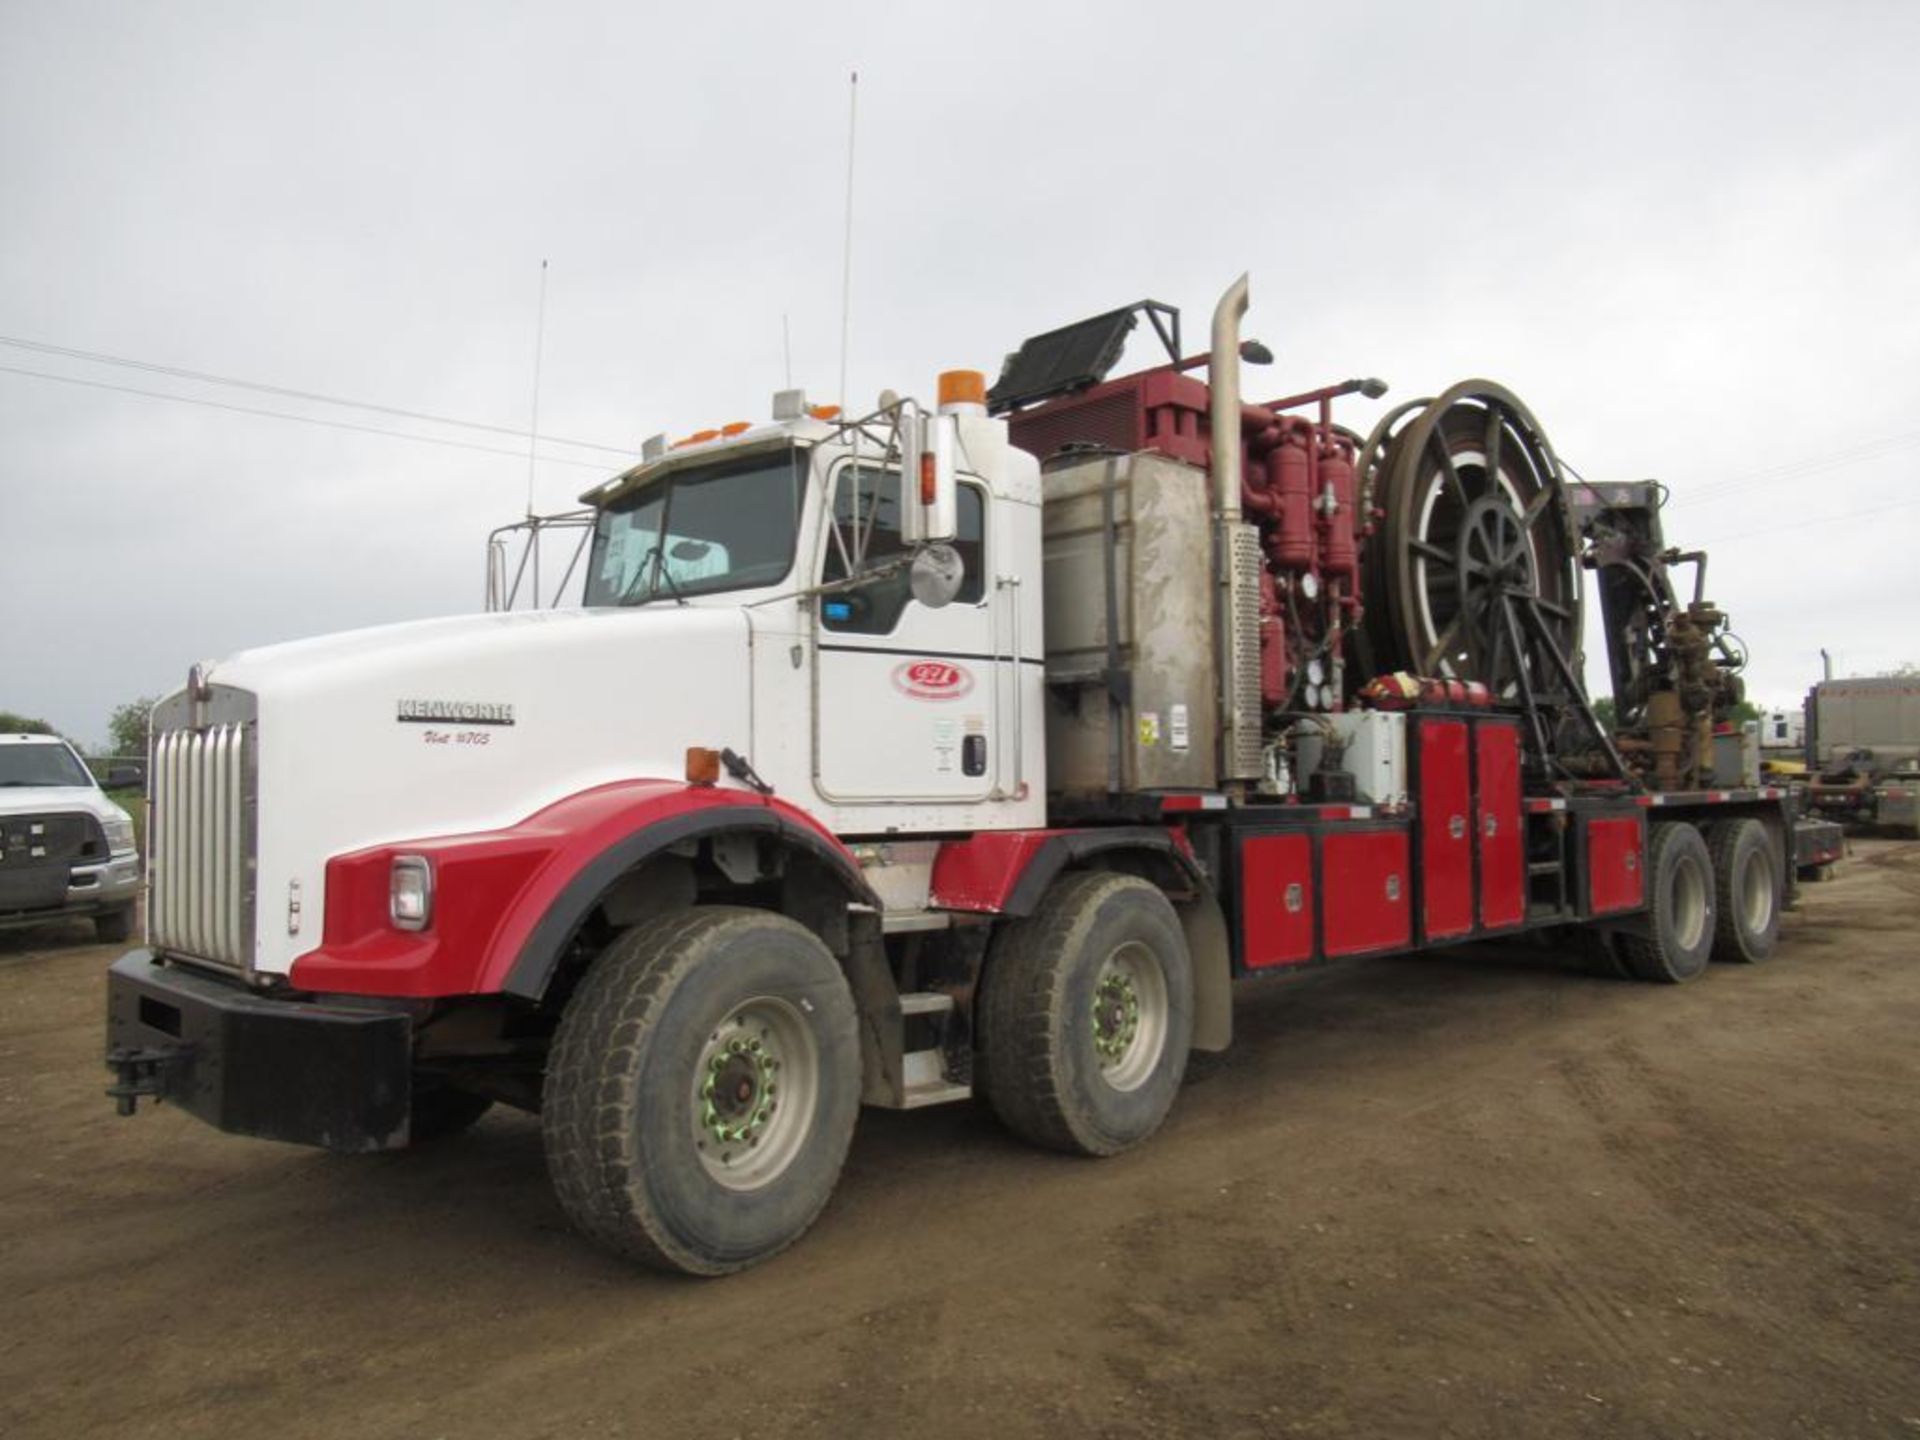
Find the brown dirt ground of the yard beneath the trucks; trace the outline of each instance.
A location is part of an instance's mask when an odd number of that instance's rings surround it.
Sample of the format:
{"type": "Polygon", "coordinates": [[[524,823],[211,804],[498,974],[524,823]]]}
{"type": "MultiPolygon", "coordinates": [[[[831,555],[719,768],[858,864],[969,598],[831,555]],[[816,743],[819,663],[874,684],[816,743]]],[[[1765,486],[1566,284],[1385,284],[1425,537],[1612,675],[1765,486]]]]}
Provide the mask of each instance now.
{"type": "Polygon", "coordinates": [[[1920,845],[1759,970],[1242,991],[1167,1129],[866,1112],[726,1281],[576,1240],[534,1119],[334,1158],[102,1096],[86,927],[0,935],[0,1434],[1920,1434],[1920,845]]]}

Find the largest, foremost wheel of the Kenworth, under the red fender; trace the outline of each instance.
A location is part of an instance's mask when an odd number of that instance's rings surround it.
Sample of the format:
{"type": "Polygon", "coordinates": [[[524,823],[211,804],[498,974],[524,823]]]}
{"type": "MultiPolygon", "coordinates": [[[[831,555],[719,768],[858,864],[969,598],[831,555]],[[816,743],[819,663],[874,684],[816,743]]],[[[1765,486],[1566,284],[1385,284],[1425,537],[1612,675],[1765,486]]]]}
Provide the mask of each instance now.
{"type": "Polygon", "coordinates": [[[701,906],[636,925],[588,970],[547,1060],[561,1208],[655,1269],[726,1275],[826,1208],[860,1108],[852,995],[812,931],[701,906]]]}

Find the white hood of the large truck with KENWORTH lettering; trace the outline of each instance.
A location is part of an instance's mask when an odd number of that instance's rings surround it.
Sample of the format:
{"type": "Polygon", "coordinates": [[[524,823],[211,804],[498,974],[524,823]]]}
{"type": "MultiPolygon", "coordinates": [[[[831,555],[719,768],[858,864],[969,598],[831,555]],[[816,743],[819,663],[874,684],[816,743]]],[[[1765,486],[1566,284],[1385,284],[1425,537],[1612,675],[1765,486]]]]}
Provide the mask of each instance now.
{"type": "Polygon", "coordinates": [[[205,676],[253,697],[255,964],[284,972],[292,895],[324,858],[518,824],[616,780],[685,774],[689,745],[751,745],[737,607],[649,605],[419,620],[240,651],[205,676]]]}

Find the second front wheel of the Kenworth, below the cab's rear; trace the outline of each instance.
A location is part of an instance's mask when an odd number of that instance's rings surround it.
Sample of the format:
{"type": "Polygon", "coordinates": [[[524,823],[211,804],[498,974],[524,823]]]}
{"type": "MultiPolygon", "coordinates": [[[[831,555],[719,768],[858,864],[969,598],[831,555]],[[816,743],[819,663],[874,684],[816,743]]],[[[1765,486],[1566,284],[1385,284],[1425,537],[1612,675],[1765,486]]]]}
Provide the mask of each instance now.
{"type": "Polygon", "coordinates": [[[1167,897],[1135,876],[1068,876],[987,958],[987,1100],[1035,1144],[1117,1154],[1167,1117],[1192,1008],[1192,962],[1167,897]]]}

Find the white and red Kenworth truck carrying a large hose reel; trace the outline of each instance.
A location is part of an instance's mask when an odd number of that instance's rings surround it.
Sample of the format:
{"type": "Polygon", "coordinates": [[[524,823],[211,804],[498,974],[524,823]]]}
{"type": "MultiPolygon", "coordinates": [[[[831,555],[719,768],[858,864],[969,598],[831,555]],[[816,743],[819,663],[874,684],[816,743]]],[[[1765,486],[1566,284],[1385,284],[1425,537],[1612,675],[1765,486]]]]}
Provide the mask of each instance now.
{"type": "Polygon", "coordinates": [[[1715,774],[1740,655],[1665,492],[1565,478],[1486,382],[1365,440],[1375,380],[1250,401],[1246,294],[1192,357],[1142,301],[991,392],[649,442],[568,609],[194,666],[109,1094],[334,1150],[518,1106],[582,1231],[712,1275],[806,1231],[862,1104],[1144,1140],[1244,975],[1766,958],[1793,822],[1715,774]],[[1142,313],[1167,363],[1108,380],[1142,313]]]}

